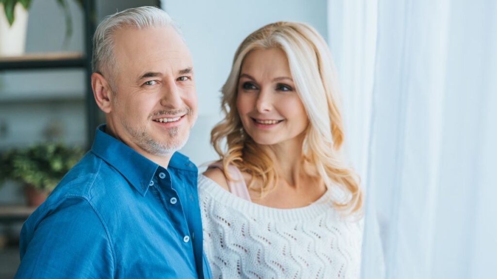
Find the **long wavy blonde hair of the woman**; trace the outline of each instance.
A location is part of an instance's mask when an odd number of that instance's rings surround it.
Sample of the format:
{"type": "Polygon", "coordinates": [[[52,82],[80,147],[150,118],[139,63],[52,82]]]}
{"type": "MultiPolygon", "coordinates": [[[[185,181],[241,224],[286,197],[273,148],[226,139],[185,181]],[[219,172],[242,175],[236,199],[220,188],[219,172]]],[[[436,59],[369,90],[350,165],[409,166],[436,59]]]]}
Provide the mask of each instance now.
{"type": "MultiPolygon", "coordinates": [[[[307,112],[310,125],[302,146],[304,170],[321,176],[331,193],[340,192],[333,200],[336,209],[358,212],[362,208],[362,192],[356,174],[341,158],[343,124],[337,77],[331,53],[325,40],[311,26],[297,22],[275,22],[250,34],[238,47],[233,67],[222,88],[221,109],[225,118],[211,132],[211,143],[221,157],[224,173],[233,164],[251,175],[249,189],[264,195],[277,180],[271,156],[245,132],[237,111],[240,70],[245,57],[256,49],[279,48],[288,58],[296,91],[307,112]],[[227,150],[221,145],[226,139],[227,150]],[[255,178],[262,186],[255,187],[255,178]]],[[[335,193],[336,194],[336,193],[335,193]]]]}

